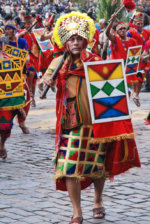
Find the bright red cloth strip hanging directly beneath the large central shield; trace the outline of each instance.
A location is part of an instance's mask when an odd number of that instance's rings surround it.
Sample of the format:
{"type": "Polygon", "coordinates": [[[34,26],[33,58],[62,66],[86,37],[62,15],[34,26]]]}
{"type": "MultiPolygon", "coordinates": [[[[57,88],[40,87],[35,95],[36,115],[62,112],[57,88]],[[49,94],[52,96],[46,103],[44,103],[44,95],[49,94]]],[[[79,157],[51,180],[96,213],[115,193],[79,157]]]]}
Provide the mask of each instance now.
{"type": "Polygon", "coordinates": [[[113,137],[133,133],[131,119],[93,124],[94,138],[113,137]]]}

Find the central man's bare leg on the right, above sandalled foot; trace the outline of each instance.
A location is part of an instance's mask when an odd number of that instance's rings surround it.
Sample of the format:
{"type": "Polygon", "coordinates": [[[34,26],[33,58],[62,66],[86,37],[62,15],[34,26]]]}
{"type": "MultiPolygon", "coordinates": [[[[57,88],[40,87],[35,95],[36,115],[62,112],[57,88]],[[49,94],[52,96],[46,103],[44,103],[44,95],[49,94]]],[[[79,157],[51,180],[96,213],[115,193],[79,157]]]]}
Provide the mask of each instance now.
{"type": "MultiPolygon", "coordinates": [[[[102,200],[102,192],[104,189],[105,177],[101,177],[99,179],[95,179],[94,181],[94,208],[101,208],[103,207],[103,200],[102,200]]],[[[104,214],[99,212],[98,214],[94,215],[95,217],[103,217],[104,214]]]]}

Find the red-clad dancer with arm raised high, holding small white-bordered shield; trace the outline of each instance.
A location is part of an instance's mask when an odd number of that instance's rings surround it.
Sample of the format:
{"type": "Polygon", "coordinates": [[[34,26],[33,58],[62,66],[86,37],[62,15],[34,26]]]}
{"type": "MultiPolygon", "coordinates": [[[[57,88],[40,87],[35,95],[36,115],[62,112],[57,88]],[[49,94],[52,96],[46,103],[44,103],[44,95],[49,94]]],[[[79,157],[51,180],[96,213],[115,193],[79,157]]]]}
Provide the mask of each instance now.
{"type": "MultiPolygon", "coordinates": [[[[116,26],[116,35],[111,33],[111,29],[114,21],[116,20],[116,13],[114,13],[111,17],[111,21],[106,28],[106,35],[111,41],[111,56],[110,59],[123,59],[126,62],[127,52],[129,47],[133,47],[137,45],[136,39],[132,37],[127,37],[127,26],[124,22],[119,21],[116,26]]],[[[136,75],[131,75],[127,77],[127,81],[131,83],[133,88],[133,100],[137,106],[140,106],[140,102],[137,102],[138,91],[136,88],[136,83],[138,82],[138,78],[136,75]]]]}

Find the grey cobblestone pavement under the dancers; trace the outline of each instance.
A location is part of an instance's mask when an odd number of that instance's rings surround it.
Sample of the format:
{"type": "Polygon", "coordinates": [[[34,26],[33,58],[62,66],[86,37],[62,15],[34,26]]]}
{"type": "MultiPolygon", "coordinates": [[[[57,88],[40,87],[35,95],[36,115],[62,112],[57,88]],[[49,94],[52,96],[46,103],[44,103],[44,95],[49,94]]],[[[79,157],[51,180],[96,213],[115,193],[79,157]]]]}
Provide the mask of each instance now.
{"type": "MultiPolygon", "coordinates": [[[[0,160],[0,224],[68,224],[71,203],[65,192],[56,192],[52,156],[54,151],[55,99],[48,98],[31,108],[27,124],[31,134],[14,124],[7,141],[8,158],[0,160]]],[[[106,216],[92,219],[93,187],[82,192],[84,224],[150,223],[150,126],[144,118],[150,110],[150,93],[141,93],[141,107],[131,102],[134,129],[142,163],[129,173],[107,181],[104,189],[106,216]]]]}

